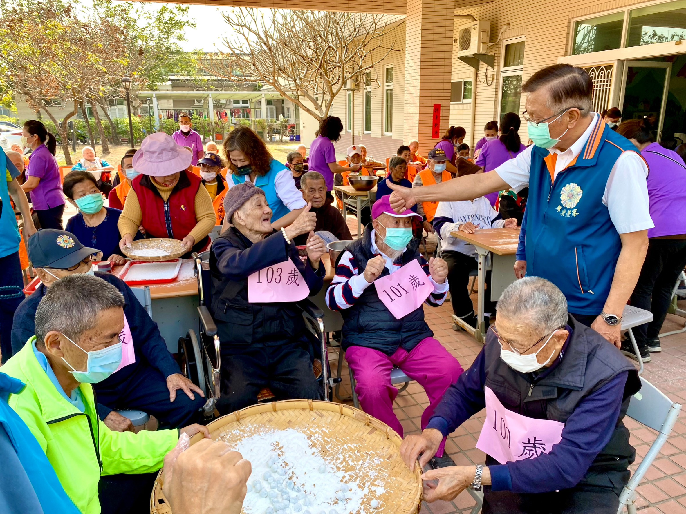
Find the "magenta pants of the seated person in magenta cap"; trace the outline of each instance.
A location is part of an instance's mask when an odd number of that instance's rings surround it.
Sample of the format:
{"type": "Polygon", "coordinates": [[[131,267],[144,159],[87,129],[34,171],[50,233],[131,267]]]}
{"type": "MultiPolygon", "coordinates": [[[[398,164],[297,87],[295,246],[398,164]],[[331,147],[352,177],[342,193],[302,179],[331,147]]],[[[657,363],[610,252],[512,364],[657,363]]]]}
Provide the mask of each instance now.
{"type": "MultiPolygon", "coordinates": [[[[403,437],[403,426],[393,412],[393,400],[398,390],[390,384],[390,371],[394,366],[421,384],[429,397],[429,406],[422,413],[421,428],[429,423],[431,415],[446,389],[454,384],[462,366],[433,337],[419,341],[411,352],[398,348],[390,356],[364,346],[351,346],[345,352],[348,366],[355,376],[355,392],[362,410],[380,419],[403,437]]],[[[438,447],[437,456],[443,455],[445,439],[438,447]]]]}

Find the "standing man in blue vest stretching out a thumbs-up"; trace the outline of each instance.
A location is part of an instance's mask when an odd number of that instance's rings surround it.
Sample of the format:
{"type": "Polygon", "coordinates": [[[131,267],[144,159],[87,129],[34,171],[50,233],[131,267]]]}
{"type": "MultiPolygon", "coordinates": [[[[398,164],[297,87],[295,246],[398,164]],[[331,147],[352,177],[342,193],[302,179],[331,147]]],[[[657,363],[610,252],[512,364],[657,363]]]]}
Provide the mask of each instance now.
{"type": "Polygon", "coordinates": [[[524,84],[524,117],[534,141],[495,169],[434,186],[392,185],[398,212],[421,201],[458,201],[529,187],[525,262],[519,274],[562,290],[577,321],[619,347],[626,301],[641,272],[654,225],[648,167],[632,143],[591,111],[583,69],[554,64],[524,84]]]}

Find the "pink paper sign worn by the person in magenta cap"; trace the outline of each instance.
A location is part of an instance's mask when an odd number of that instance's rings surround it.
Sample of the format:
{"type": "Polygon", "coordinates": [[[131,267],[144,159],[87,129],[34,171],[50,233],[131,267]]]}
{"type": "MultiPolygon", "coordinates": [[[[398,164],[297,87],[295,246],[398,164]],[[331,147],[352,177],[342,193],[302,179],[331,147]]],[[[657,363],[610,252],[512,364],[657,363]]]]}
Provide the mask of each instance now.
{"type": "Polygon", "coordinates": [[[410,314],[434,291],[434,284],[416,259],[391,275],[377,278],[374,285],[379,299],[395,319],[410,314]]]}

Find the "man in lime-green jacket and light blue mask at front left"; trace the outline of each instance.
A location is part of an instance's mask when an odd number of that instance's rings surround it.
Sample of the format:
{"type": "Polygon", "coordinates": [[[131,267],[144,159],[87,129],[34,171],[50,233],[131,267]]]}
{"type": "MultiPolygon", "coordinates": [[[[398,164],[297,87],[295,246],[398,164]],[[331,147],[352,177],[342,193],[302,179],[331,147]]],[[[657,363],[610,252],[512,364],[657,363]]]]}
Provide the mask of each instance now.
{"type": "Polygon", "coordinates": [[[52,284],[36,309],[36,335],[3,365],[26,387],[9,404],[31,430],[83,514],[141,512],[165,454],[209,430],[113,432],[97,417],[91,384],[123,364],[127,299],[101,278],[77,273],[52,284]]]}

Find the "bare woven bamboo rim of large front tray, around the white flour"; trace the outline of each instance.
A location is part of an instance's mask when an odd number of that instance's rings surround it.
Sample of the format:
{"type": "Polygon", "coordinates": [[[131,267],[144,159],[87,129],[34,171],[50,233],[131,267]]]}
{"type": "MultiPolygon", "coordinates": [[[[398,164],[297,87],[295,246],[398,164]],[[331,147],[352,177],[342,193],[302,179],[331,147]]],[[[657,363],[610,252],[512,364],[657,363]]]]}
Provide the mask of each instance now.
{"type": "MultiPolygon", "coordinates": [[[[327,456],[350,452],[378,457],[375,465],[364,465],[344,472],[357,470],[362,482],[371,467],[386,476],[386,491],[379,496],[380,505],[375,514],[416,514],[422,501],[421,467],[414,472],[400,458],[401,437],[385,423],[357,408],[333,402],[313,400],[285,400],[257,404],[212,421],[207,428],[215,441],[233,445],[270,426],[276,430],[293,428],[308,435],[314,446],[327,456]]],[[[191,445],[202,439],[202,434],[191,437],[191,445]]],[[[172,514],[162,492],[162,472],[158,474],[150,496],[151,514],[172,514]]],[[[365,506],[366,512],[372,511],[365,506]]],[[[245,509],[243,510],[245,512],[245,509]]]]}

